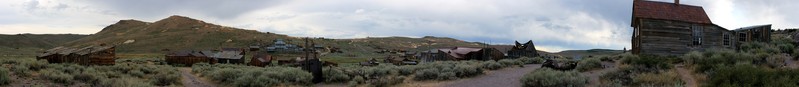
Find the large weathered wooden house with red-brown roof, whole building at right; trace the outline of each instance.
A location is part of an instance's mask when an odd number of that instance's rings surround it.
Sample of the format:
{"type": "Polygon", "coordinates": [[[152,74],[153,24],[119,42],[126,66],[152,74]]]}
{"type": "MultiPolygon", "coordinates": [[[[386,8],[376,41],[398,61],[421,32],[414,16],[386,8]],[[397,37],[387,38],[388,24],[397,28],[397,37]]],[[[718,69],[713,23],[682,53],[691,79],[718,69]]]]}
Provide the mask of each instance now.
{"type": "Polygon", "coordinates": [[[736,47],[734,33],[710,21],[700,6],[633,1],[632,53],[682,55],[710,48],[736,47]]]}

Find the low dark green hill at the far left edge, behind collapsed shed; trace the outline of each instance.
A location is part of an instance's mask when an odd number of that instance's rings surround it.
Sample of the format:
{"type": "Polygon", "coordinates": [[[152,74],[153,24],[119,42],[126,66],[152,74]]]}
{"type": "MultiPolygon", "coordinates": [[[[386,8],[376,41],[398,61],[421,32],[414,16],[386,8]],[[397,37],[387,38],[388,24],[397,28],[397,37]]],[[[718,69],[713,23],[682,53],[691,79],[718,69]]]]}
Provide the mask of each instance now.
{"type": "Polygon", "coordinates": [[[0,55],[30,55],[89,35],[78,34],[0,34],[0,55]]]}

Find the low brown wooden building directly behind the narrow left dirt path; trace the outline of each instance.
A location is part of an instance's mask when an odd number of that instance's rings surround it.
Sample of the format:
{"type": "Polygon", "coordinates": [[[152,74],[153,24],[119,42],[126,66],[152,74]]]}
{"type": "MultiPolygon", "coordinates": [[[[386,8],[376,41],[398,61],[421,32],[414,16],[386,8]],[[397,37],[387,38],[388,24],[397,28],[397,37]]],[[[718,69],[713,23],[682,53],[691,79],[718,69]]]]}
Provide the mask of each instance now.
{"type": "Polygon", "coordinates": [[[211,58],[213,53],[211,51],[176,51],[165,55],[165,61],[168,64],[183,64],[193,65],[195,63],[216,63],[216,59],[211,58]]]}

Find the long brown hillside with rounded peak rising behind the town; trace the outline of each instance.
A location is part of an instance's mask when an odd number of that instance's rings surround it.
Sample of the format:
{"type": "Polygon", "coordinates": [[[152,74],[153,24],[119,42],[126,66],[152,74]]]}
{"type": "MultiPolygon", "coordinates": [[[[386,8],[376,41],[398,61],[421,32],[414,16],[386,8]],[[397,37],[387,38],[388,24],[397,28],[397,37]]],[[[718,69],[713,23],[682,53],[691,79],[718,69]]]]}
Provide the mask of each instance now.
{"type": "MultiPolygon", "coordinates": [[[[69,42],[65,46],[115,44],[117,52],[121,54],[160,55],[165,50],[207,50],[228,47],[244,48],[255,44],[268,45],[272,44],[275,39],[284,39],[289,44],[303,43],[301,37],[226,27],[176,15],[152,23],[120,20],[96,34],[69,42]]],[[[385,54],[378,54],[375,51],[391,49],[419,51],[453,46],[484,46],[482,43],[432,36],[422,38],[314,38],[312,40],[317,44],[340,48],[344,51],[324,56],[331,58],[382,58],[385,54]]],[[[291,54],[286,56],[291,56],[291,54]]]]}

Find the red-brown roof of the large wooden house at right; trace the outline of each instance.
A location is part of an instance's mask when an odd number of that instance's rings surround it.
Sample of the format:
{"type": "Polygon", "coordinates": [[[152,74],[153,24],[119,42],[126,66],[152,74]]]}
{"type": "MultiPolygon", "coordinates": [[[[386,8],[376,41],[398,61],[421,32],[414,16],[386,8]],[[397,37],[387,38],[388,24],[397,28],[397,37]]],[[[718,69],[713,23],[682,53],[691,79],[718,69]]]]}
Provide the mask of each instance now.
{"type": "MultiPolygon", "coordinates": [[[[667,2],[633,1],[633,21],[638,18],[675,20],[692,23],[712,24],[705,10],[700,6],[667,2]]],[[[633,22],[631,26],[635,26],[633,22]]]]}

